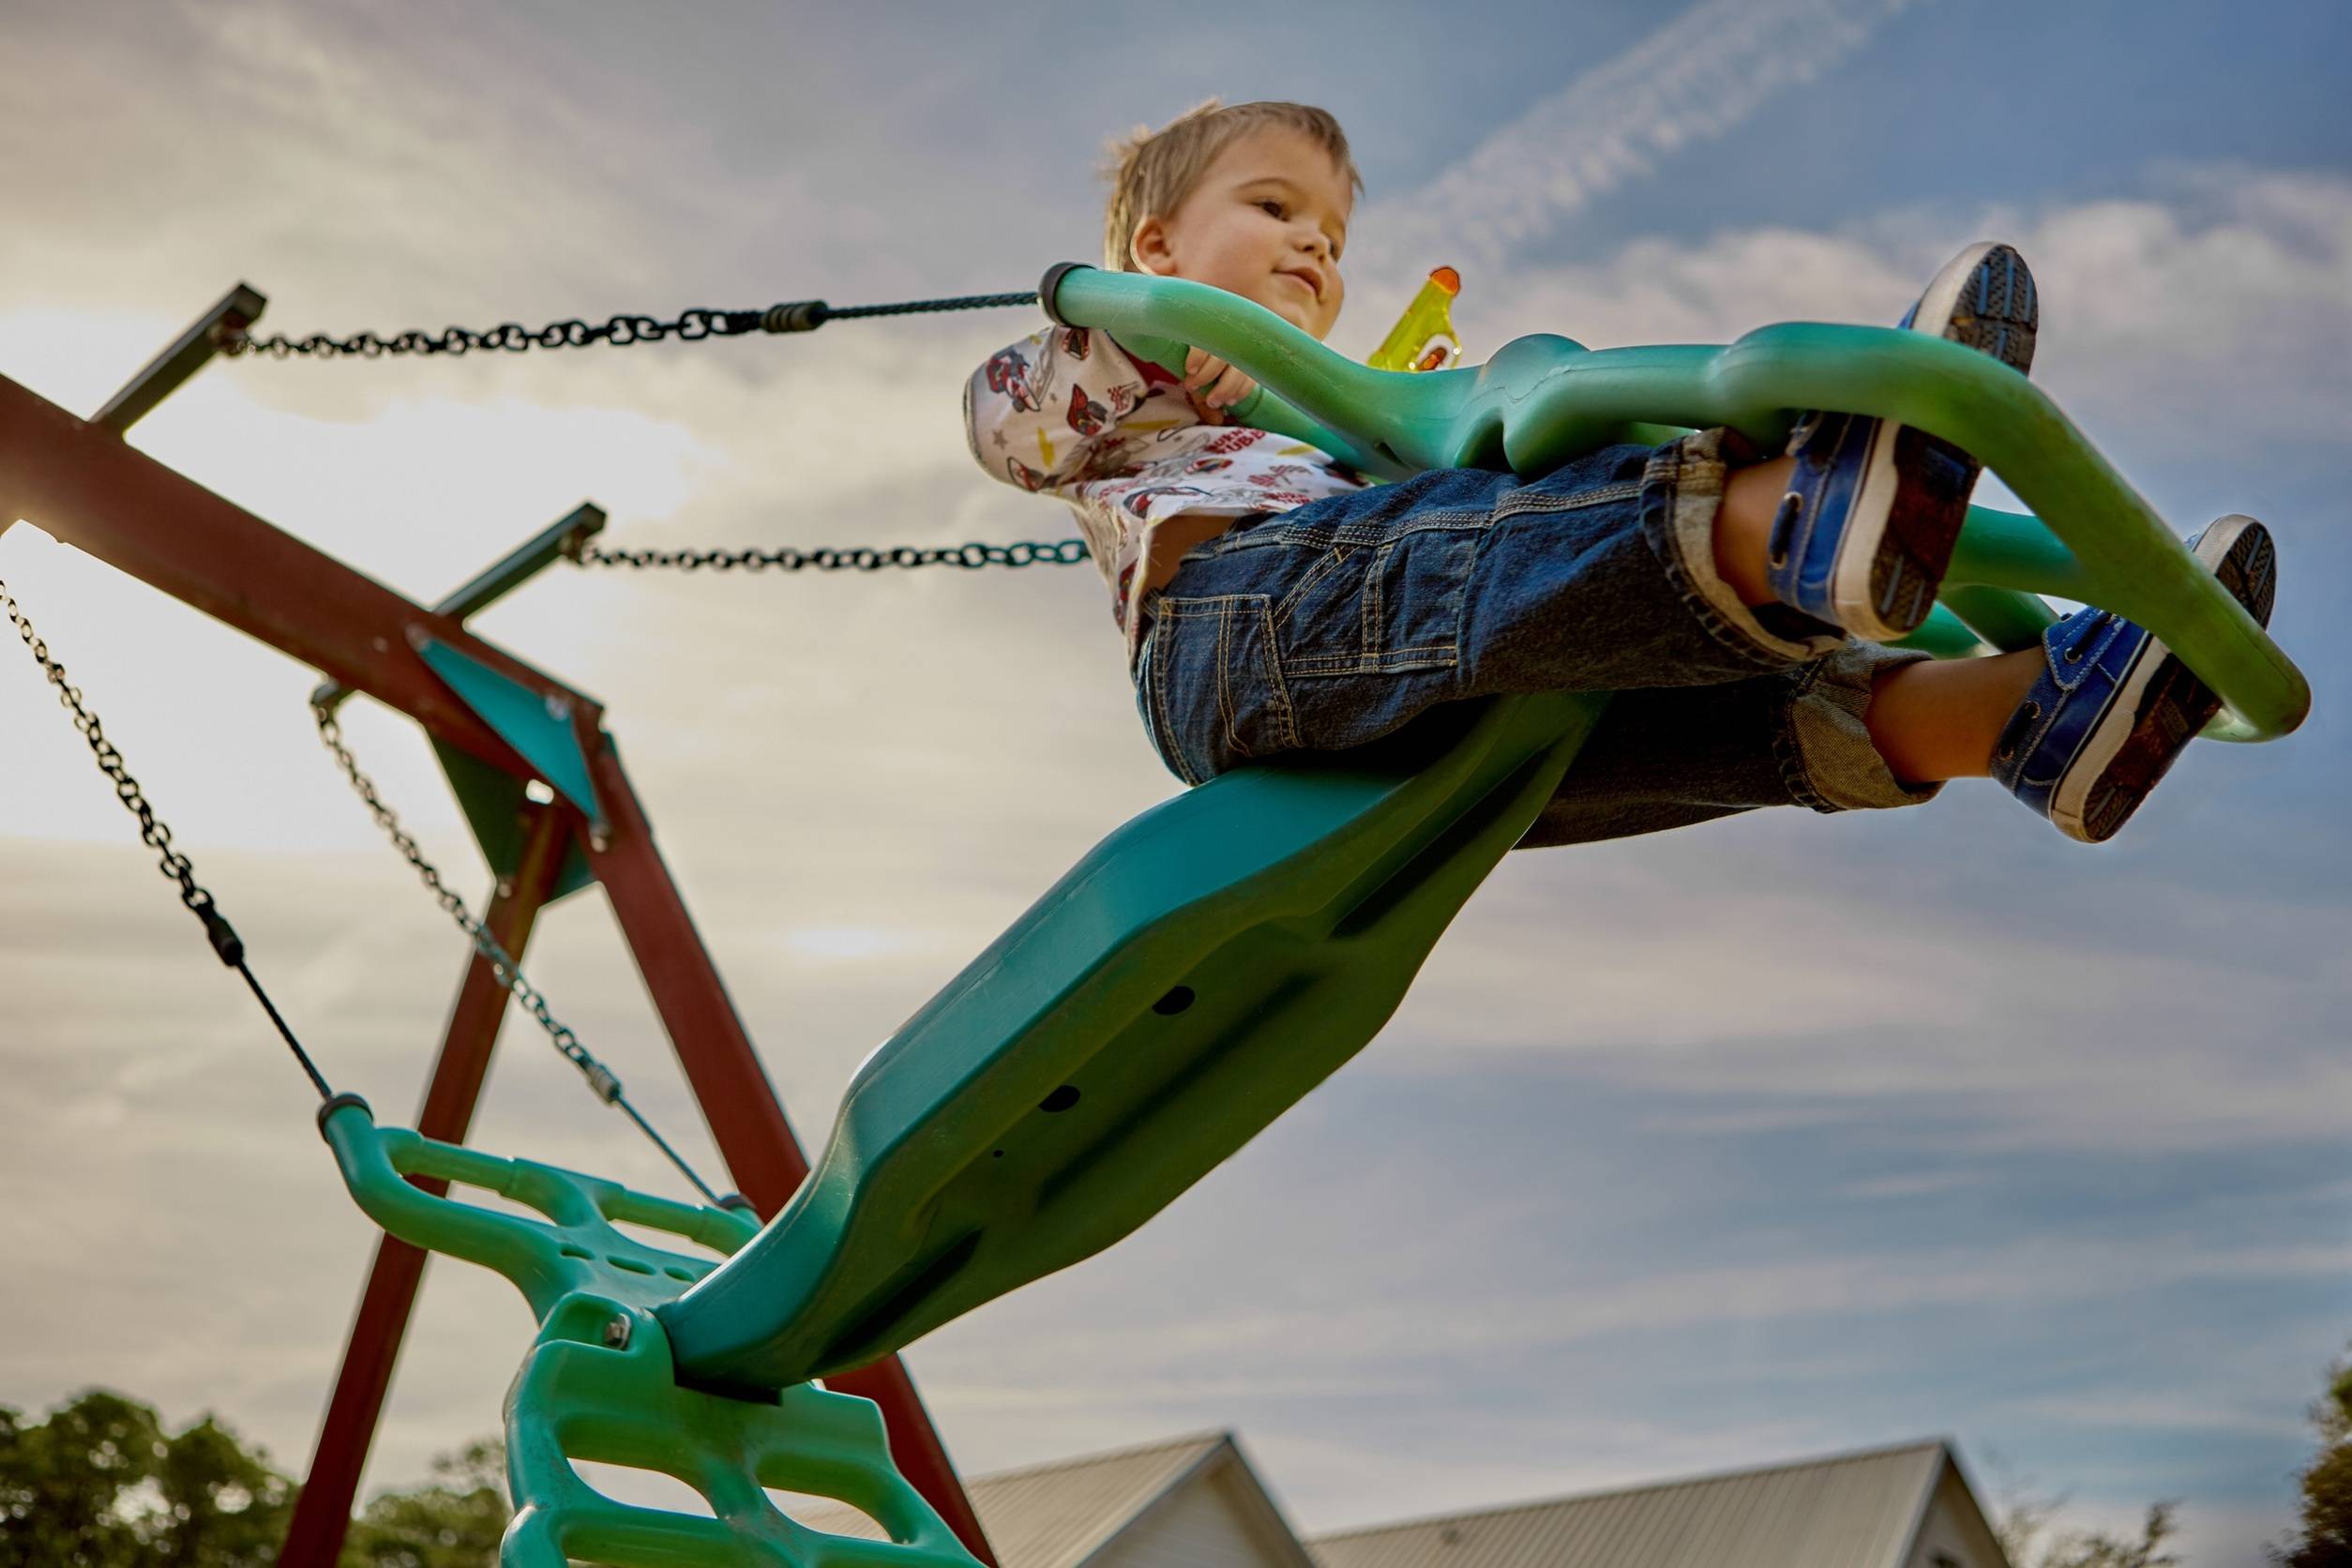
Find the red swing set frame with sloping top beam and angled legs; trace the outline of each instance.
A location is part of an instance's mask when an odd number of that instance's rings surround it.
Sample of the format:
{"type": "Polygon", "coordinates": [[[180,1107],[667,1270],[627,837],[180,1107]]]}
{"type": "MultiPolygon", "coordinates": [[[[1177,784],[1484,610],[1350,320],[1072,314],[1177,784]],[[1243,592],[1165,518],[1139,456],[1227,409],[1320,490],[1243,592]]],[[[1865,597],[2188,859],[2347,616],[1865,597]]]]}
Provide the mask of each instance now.
{"type": "MultiPolygon", "coordinates": [[[[567,856],[574,846],[586,853],[736,1190],[762,1218],[774,1215],[809,1161],[654,846],[644,804],[614,750],[597,743],[597,703],[475,637],[461,618],[405,599],[122,440],[132,421],[259,308],[261,296],[240,284],[89,421],[0,376],[0,529],[28,520],[327,679],[374,696],[416,719],[430,738],[517,780],[536,778],[532,764],[433,675],[412,637],[423,632],[567,703],[607,820],[602,832],[590,832],[562,799],[524,806],[522,858],[494,889],[485,924],[520,959],[567,856]]],[[[473,954],[416,1114],[419,1133],[463,1143],[503,1018],[506,990],[489,961],[473,954]]],[[[421,1251],[390,1237],[376,1244],[310,1474],[278,1556],[282,1568],[332,1568],[341,1552],[421,1276],[421,1251]]],[[[898,1469],[964,1547],[993,1566],[978,1516],[906,1366],[889,1356],[826,1382],[882,1406],[898,1469]]]]}

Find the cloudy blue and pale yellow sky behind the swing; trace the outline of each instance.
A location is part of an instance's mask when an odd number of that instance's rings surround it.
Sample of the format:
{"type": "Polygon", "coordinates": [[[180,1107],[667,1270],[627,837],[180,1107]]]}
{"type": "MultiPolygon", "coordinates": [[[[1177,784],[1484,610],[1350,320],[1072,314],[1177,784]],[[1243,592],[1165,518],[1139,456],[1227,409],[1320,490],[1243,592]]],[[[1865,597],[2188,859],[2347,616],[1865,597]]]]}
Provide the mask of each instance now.
{"type": "MultiPolygon", "coordinates": [[[[2197,1568],[2288,1530],[2352,1340],[2352,12],[31,0],[0,45],[0,374],[85,416],[238,280],[296,334],[1023,289],[1096,259],[1103,141],[1209,94],[1348,127],[1350,353],[1437,263],[1484,357],[1893,322],[2016,242],[2034,378],[2183,534],[2277,534],[2303,731],[2194,748],[2100,849],[1955,785],[1510,856],[1352,1065],[908,1363],[967,1472],[1232,1427],[1303,1530],[1929,1434],[2074,1528],[2180,1500],[2197,1568]]],[[[583,498],[614,545],[1061,538],[957,418],[1033,320],[221,362],[134,444],[423,602],[583,498]]],[[[463,950],[318,750],[313,672],[35,524],[0,581],[325,1072],[409,1114],[463,950]]],[[[609,705],[809,1145],[1178,788],[1087,569],[555,569],[475,628],[609,705]]],[[[346,731],[480,903],[414,729],[346,731]]],[[[113,1385],[299,1472],[374,1232],[7,649],[0,748],[0,1403],[113,1385]]],[[[597,891],[529,971],[717,1168],[597,891]]],[[[473,1140],[677,1190],[522,1023],[473,1140]]],[[[435,1265],[365,1486],[494,1432],[527,1338],[435,1265]]]]}

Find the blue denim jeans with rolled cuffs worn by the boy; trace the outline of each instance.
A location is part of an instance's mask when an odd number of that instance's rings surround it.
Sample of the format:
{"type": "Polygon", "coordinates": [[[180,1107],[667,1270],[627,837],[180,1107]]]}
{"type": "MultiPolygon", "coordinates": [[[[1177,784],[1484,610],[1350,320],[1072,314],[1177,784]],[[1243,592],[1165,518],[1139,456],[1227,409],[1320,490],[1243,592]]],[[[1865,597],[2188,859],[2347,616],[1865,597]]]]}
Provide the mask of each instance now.
{"type": "Polygon", "coordinates": [[[1715,571],[1729,461],[1703,430],[1541,480],[1449,468],[1263,512],[1145,599],[1136,703],[1169,771],[1376,741],[1437,703],[1616,691],[1522,849],[1661,832],[1755,806],[1907,806],[1872,679],[1922,658],[1851,642],[1715,571]]]}

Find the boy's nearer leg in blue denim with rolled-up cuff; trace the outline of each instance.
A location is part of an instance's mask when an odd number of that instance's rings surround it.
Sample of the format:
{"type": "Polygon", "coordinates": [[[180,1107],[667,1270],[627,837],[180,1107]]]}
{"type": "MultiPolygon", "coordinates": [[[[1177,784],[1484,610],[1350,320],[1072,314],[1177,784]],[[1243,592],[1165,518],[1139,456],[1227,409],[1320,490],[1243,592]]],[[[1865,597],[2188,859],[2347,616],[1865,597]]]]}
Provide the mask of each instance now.
{"type": "Polygon", "coordinates": [[[1162,759],[1202,783],[1435,703],[1736,682],[1835,649],[1837,628],[1719,581],[1726,456],[1755,454],[1708,430],[1524,484],[1439,470],[1237,524],[1145,599],[1136,684],[1162,759]]]}

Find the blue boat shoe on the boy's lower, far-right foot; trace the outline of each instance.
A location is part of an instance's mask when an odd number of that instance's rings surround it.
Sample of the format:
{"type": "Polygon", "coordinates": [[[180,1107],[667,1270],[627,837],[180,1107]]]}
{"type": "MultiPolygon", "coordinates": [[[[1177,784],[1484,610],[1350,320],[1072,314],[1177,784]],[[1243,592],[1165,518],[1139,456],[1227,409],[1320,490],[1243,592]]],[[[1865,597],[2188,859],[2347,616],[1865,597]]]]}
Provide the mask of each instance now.
{"type": "MultiPolygon", "coordinates": [[[[2270,625],[2270,529],[2232,512],[2206,524],[2192,550],[2270,625]]],[[[2058,832],[2100,844],[2220,712],[2220,698],[2154,635],[2103,609],[2077,609],[2042,635],[2042,646],[2046,668],[2002,731],[1992,776],[2058,832]]]]}

